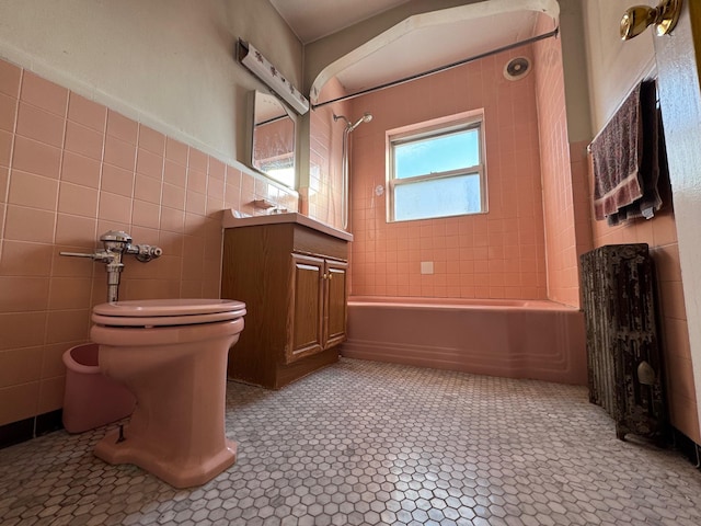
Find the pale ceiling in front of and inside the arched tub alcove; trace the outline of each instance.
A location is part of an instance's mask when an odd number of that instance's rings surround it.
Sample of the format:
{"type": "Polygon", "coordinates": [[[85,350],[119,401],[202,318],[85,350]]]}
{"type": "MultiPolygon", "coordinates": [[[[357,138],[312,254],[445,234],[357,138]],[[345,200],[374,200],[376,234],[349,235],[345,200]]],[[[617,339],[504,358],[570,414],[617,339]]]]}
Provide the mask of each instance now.
{"type": "MultiPolygon", "coordinates": [[[[322,38],[409,0],[271,0],[303,43],[322,38]]],[[[311,89],[312,103],[336,77],[346,93],[404,79],[536,36],[539,16],[556,0],[485,0],[416,14],[329,65],[311,89]]],[[[321,96],[323,99],[323,95],[321,96]]]]}

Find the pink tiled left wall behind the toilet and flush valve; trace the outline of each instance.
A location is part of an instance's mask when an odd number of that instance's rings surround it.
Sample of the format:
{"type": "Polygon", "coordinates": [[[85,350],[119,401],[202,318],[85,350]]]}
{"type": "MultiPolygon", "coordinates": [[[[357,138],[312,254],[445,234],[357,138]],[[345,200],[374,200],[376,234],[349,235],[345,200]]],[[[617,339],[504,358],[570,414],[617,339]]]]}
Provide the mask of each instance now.
{"type": "Polygon", "coordinates": [[[0,60],[0,425],[62,405],[61,354],[106,297],[92,252],[126,230],[158,244],[128,258],[120,298],[219,297],[220,214],[297,196],[0,60]]]}

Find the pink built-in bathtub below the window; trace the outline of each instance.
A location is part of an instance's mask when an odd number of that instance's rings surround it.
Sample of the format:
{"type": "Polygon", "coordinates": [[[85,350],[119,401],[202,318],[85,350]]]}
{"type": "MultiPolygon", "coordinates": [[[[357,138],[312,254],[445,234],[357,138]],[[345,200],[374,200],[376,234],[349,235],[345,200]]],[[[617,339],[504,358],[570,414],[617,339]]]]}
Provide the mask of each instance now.
{"type": "Polygon", "coordinates": [[[584,315],[553,301],[355,296],[347,336],[350,358],[587,384],[584,315]]]}

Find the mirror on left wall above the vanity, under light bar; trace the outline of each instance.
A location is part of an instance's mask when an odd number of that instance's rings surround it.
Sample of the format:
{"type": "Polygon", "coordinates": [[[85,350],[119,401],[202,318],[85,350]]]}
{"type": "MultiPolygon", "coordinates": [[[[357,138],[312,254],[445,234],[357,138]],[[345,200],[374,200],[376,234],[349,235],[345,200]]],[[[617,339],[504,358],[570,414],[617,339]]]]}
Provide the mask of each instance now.
{"type": "Polygon", "coordinates": [[[274,95],[254,92],[251,164],[295,187],[295,121],[274,95]]]}

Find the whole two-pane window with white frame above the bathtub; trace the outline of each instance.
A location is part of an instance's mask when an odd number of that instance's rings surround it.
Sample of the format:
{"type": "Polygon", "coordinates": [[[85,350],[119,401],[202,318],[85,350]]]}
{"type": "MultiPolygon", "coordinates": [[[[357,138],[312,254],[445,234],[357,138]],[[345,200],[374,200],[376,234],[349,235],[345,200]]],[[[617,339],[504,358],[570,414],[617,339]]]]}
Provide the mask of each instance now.
{"type": "Polygon", "coordinates": [[[486,211],[483,117],[394,130],[389,142],[389,220],[486,211]]]}

